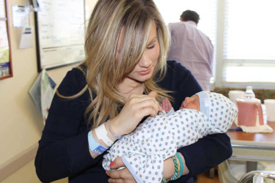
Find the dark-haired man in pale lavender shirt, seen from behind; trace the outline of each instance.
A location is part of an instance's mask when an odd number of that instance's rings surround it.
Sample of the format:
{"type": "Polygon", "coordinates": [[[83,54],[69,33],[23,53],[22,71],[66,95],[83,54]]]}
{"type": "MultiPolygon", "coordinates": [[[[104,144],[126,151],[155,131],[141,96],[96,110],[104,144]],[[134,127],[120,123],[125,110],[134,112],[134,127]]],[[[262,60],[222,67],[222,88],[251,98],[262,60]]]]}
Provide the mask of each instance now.
{"type": "Polygon", "coordinates": [[[171,49],[167,60],[175,60],[190,70],[203,90],[210,90],[213,66],[213,45],[210,39],[197,29],[200,16],[186,10],[181,22],[169,23],[171,49]]]}

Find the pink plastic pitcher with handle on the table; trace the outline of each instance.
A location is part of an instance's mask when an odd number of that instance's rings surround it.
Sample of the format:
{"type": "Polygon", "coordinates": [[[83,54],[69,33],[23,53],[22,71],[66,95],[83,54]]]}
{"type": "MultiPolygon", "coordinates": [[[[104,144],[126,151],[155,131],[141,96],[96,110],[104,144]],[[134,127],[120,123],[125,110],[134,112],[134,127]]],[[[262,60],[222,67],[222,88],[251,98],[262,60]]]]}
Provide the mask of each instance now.
{"type": "Polygon", "coordinates": [[[259,113],[259,123],[263,125],[261,100],[255,98],[238,98],[238,125],[255,126],[257,111],[259,113]]]}

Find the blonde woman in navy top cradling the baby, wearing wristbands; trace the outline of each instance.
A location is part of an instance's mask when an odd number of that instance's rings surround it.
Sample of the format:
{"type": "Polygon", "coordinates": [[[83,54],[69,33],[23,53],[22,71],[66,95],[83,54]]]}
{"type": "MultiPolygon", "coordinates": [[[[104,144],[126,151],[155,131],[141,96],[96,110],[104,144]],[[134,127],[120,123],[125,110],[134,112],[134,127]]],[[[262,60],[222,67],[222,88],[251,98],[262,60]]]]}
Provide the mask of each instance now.
{"type": "MultiPolygon", "coordinates": [[[[86,60],[58,87],[39,141],[35,167],[42,182],[67,176],[70,183],[135,182],[127,168],[105,174],[102,156],[116,140],[105,122],[110,119],[116,137],[129,134],[161,110],[163,98],[174,99],[178,109],[179,101],[201,91],[188,70],[166,62],[168,35],[152,0],[97,2],[87,27],[86,60]]],[[[186,182],[229,158],[232,148],[226,134],[215,134],[178,153],[182,177],[175,182],[186,182]]],[[[124,164],[117,158],[110,166],[124,164]]],[[[163,167],[164,179],[173,177],[171,158],[163,167]]]]}

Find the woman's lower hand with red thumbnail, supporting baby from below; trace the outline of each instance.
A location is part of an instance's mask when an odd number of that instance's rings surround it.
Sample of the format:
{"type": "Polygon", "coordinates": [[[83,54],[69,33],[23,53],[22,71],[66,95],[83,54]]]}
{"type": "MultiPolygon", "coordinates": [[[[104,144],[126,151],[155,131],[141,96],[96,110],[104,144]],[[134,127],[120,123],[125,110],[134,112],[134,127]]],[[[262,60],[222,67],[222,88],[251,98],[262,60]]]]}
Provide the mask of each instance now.
{"type": "MultiPolygon", "coordinates": [[[[124,163],[121,159],[121,157],[117,157],[113,161],[112,169],[124,167],[124,163]]],[[[136,183],[135,179],[133,178],[130,171],[127,169],[127,167],[121,169],[121,170],[114,170],[114,171],[106,171],[106,174],[110,177],[108,179],[109,183],[136,183]]]]}

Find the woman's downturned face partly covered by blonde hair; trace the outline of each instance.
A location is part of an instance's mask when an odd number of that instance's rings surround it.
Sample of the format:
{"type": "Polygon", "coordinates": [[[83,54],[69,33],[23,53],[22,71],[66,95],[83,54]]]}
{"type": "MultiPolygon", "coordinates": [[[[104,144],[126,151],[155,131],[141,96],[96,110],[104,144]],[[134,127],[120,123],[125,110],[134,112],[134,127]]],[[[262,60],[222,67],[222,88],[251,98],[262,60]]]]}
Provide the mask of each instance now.
{"type": "MultiPolygon", "coordinates": [[[[121,34],[121,33],[120,33],[121,34]]],[[[118,45],[120,45],[122,36],[119,35],[118,45]]],[[[134,67],[134,70],[125,79],[132,81],[144,82],[152,77],[160,54],[160,45],[156,32],[156,23],[153,23],[150,31],[146,48],[134,67]]]]}

